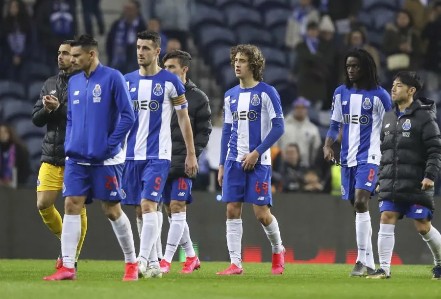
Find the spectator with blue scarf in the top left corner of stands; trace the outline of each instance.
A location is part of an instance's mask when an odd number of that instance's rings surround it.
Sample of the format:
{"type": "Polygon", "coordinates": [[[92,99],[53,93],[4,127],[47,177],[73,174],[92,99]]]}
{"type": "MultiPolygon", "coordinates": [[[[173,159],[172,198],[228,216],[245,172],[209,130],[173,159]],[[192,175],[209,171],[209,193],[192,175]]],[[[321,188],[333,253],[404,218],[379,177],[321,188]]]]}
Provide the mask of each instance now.
{"type": "Polygon", "coordinates": [[[27,52],[32,49],[31,18],[22,0],[11,0],[6,8],[6,17],[1,24],[1,44],[8,70],[8,78],[23,81],[22,67],[27,52]]]}

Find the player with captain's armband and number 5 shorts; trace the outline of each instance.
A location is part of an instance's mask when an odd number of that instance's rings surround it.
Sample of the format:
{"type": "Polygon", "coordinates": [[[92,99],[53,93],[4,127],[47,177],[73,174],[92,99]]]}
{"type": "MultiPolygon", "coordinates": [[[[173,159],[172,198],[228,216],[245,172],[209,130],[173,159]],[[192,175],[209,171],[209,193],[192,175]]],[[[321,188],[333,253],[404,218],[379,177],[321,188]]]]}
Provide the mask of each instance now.
{"type": "Polygon", "coordinates": [[[136,43],[140,69],[125,75],[135,111],[135,125],[124,145],[123,204],[135,205],[143,218],[138,255],[139,274],[161,277],[156,241],[159,236],[158,202],[170,170],[173,107],[186,146],[185,169],[189,177],[197,171],[193,131],[187,111],[185,87],[179,77],[158,64],[161,38],[154,31],[138,33],[136,43]]]}

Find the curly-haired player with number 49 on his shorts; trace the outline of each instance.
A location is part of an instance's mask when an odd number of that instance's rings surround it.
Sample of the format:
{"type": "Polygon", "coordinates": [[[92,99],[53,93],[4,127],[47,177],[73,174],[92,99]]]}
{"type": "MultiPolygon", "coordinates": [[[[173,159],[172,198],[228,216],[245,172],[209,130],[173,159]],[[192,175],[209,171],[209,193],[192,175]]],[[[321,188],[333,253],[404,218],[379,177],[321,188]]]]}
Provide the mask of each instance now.
{"type": "Polygon", "coordinates": [[[271,274],[282,274],[285,248],[279,224],[271,214],[271,150],[284,133],[280,96],[262,82],[265,58],[254,45],[230,50],[239,85],[225,93],[221,161],[218,181],[226,206],[226,239],[231,265],[219,275],[243,274],[242,204],[253,204],[254,214],[272,247],[271,274]]]}

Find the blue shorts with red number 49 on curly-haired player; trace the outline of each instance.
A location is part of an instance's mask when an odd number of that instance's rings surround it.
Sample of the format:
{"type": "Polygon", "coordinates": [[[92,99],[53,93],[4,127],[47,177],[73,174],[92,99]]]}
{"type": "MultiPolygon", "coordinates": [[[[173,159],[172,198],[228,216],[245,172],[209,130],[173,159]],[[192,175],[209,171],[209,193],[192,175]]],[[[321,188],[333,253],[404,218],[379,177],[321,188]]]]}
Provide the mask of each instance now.
{"type": "Polygon", "coordinates": [[[272,206],[271,166],[256,164],[254,170],[245,172],[242,164],[225,161],[221,200],[272,206]]]}

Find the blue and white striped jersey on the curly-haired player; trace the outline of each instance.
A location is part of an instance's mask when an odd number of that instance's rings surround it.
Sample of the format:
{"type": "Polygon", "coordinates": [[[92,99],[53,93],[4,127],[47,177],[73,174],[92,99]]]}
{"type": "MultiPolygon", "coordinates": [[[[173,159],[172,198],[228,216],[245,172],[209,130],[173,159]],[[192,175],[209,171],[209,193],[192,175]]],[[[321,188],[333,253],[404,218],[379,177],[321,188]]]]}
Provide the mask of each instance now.
{"type": "MultiPolygon", "coordinates": [[[[241,161],[267,137],[273,118],[283,118],[280,96],[271,85],[260,82],[253,88],[240,85],[225,93],[223,122],[232,124],[227,159],[241,161]]],[[[258,163],[271,165],[271,150],[258,163]]]]}

